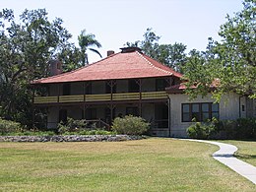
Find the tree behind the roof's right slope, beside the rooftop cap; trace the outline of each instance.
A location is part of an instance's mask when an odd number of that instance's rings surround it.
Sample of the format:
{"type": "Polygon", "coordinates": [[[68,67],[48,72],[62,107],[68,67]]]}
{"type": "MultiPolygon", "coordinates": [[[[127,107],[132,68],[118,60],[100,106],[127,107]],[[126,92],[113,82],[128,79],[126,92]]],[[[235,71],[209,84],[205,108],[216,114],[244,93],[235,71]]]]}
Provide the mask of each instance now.
{"type": "Polygon", "coordinates": [[[186,62],[186,45],[175,42],[174,44],[159,44],[160,36],[152,29],[147,29],[143,40],[126,42],[127,46],[138,46],[145,54],[158,60],[160,63],[182,72],[182,67],[186,62]]]}

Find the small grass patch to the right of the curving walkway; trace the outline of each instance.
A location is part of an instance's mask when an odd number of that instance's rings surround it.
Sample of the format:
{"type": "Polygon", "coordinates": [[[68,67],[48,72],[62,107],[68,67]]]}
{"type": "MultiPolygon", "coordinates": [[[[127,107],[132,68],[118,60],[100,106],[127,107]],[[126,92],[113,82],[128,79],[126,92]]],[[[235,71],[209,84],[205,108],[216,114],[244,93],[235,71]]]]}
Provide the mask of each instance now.
{"type": "Polygon", "coordinates": [[[232,144],[238,148],[238,151],[234,154],[236,158],[256,166],[256,141],[228,140],[222,142],[232,144]]]}

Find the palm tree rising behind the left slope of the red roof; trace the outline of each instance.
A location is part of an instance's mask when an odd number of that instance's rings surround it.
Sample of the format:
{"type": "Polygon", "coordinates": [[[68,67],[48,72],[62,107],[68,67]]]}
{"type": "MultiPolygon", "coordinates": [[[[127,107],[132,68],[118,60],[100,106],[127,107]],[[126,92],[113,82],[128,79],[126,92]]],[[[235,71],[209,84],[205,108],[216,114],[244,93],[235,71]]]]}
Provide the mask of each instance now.
{"type": "MultiPolygon", "coordinates": [[[[84,65],[88,64],[88,54],[87,54],[87,48],[90,46],[96,46],[97,48],[101,47],[101,44],[96,40],[96,35],[93,33],[86,33],[86,30],[83,30],[81,34],[78,36],[78,42],[81,47],[82,53],[83,53],[83,63],[84,65]]],[[[89,48],[89,50],[92,50],[93,52],[96,52],[100,57],[101,54],[95,49],[95,48],[89,48]]]]}

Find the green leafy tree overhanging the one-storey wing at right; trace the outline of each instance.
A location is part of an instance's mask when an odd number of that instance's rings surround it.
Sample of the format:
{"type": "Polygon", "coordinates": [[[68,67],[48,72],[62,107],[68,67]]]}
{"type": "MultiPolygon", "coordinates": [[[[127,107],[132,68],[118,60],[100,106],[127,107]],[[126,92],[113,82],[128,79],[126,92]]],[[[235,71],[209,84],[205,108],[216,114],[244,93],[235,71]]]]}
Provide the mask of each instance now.
{"type": "Polygon", "coordinates": [[[256,97],[256,1],[244,0],[243,10],[227,15],[221,26],[220,42],[209,39],[205,52],[188,59],[184,77],[190,96],[208,92],[220,100],[226,92],[256,97]],[[210,85],[218,84],[210,91],[210,85]]]}

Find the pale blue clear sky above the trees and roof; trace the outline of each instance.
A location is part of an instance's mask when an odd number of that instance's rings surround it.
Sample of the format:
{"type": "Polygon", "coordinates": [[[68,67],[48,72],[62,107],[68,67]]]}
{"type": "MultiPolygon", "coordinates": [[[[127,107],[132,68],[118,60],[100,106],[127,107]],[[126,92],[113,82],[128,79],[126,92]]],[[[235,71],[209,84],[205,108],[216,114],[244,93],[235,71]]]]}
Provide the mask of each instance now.
{"type": "MultiPolygon", "coordinates": [[[[49,20],[61,18],[63,27],[78,46],[77,36],[86,29],[102,47],[119,52],[124,44],[142,40],[147,28],[160,36],[160,43],[182,42],[205,50],[208,37],[220,40],[218,32],[226,14],[242,10],[242,0],[0,0],[0,9],[13,9],[17,18],[25,9],[45,8],[49,20]]],[[[90,63],[99,60],[89,52],[90,63]]]]}

